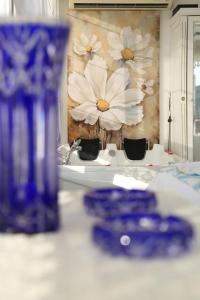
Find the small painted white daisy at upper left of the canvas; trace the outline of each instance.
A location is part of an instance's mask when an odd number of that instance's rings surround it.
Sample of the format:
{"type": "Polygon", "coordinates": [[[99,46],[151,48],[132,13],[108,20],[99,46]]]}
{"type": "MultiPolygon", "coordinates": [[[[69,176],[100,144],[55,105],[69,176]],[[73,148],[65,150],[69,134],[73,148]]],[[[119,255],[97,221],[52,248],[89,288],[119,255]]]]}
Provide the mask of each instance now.
{"type": "Polygon", "coordinates": [[[84,33],[80,35],[80,40],[74,39],[74,52],[78,55],[96,53],[101,49],[101,43],[97,41],[97,36],[93,34],[87,37],[84,33]]]}

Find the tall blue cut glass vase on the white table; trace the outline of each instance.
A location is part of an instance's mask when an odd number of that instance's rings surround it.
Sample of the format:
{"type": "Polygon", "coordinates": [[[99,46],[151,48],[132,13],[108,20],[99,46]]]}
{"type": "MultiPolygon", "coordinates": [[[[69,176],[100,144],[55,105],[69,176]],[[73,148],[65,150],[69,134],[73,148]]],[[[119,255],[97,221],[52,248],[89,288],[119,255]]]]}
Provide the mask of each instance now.
{"type": "Polygon", "coordinates": [[[0,23],[0,231],[59,228],[57,110],[69,26],[0,23]]]}

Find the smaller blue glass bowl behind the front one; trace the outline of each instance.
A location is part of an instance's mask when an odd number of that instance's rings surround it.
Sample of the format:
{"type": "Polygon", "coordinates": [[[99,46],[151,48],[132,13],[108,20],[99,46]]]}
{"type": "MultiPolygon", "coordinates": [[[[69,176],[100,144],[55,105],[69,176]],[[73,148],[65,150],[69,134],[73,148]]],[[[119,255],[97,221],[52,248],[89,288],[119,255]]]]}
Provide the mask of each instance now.
{"type": "Polygon", "coordinates": [[[149,191],[105,188],[86,193],[84,205],[89,214],[105,218],[121,213],[155,211],[157,200],[149,191]]]}

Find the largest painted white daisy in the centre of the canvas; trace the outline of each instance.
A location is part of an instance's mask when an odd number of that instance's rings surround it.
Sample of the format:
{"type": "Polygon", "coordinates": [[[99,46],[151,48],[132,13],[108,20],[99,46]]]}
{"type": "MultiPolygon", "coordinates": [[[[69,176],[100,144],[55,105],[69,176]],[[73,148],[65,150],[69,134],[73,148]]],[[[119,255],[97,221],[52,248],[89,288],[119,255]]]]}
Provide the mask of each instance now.
{"type": "Polygon", "coordinates": [[[94,55],[84,75],[69,75],[68,94],[80,105],[70,111],[76,121],[101,128],[119,130],[122,124],[135,125],[143,119],[143,107],[138,106],[144,93],[138,88],[127,88],[130,75],[127,68],[119,68],[108,79],[103,58],[94,55]],[[127,89],[126,89],[127,88],[127,89]]]}

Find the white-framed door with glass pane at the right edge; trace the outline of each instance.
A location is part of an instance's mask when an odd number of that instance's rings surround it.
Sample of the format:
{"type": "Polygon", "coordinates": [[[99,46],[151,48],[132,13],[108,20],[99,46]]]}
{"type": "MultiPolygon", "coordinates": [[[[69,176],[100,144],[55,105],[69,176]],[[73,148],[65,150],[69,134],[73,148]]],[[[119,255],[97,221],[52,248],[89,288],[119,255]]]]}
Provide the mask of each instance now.
{"type": "Polygon", "coordinates": [[[188,17],[188,158],[200,161],[200,16],[188,17]]]}

